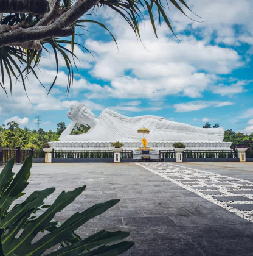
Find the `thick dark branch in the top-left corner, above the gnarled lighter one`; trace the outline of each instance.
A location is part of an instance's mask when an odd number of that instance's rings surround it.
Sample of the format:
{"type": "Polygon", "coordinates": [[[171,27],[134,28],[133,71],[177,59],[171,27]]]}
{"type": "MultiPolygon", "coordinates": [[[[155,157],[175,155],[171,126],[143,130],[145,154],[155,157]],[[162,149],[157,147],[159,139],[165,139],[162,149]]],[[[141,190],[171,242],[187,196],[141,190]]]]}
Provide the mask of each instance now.
{"type": "Polygon", "coordinates": [[[1,13],[33,13],[44,16],[54,8],[56,0],[0,0],[1,13]]]}

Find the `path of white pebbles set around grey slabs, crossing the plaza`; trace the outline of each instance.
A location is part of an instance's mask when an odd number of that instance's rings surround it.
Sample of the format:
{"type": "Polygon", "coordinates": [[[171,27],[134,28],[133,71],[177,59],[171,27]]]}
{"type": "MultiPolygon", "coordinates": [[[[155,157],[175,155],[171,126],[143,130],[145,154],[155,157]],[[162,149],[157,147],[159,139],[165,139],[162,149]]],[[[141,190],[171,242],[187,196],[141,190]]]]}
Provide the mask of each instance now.
{"type": "Polygon", "coordinates": [[[170,182],[176,183],[180,187],[185,188],[186,190],[189,190],[198,196],[219,205],[220,207],[223,207],[229,212],[235,213],[241,218],[253,222],[253,210],[238,210],[237,208],[232,207],[233,205],[253,204],[253,182],[215,174],[213,172],[200,171],[198,169],[174,165],[171,163],[151,162],[136,163],[136,165],[142,166],[148,171],[158,174],[164,179],[170,180],[170,182]],[[199,187],[207,188],[201,189],[199,187]],[[216,188],[213,189],[213,187],[216,188]],[[204,194],[204,191],[209,191],[210,194],[204,194]],[[243,194],[233,193],[240,193],[240,191],[243,191],[243,194]],[[247,193],[247,191],[249,191],[249,193],[247,193]],[[228,196],[238,197],[238,199],[240,199],[240,197],[245,197],[245,201],[219,201],[219,198],[221,199],[223,197],[224,199],[224,197],[228,196]]]}

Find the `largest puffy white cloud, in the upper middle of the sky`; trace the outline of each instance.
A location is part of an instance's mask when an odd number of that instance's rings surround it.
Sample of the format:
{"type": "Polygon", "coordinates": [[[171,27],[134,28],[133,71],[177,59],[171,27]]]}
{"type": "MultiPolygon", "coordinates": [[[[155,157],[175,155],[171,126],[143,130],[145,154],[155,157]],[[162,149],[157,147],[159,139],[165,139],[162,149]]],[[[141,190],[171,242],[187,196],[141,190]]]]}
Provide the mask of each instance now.
{"type": "MultiPolygon", "coordinates": [[[[92,76],[109,81],[102,90],[115,98],[159,99],[167,95],[201,97],[217,75],[229,74],[243,65],[234,49],[221,48],[197,40],[193,36],[181,41],[168,37],[168,28],[158,26],[156,40],[150,21],[140,22],[142,43],[136,40],[130,26],[114,15],[109,24],[117,37],[114,41],[87,40],[97,62],[92,76]],[[115,26],[117,24],[117,26],[115,26]],[[145,47],[144,47],[145,46],[145,47]]],[[[104,93],[102,93],[104,95],[104,93]]],[[[95,98],[97,93],[89,94],[95,98]]]]}

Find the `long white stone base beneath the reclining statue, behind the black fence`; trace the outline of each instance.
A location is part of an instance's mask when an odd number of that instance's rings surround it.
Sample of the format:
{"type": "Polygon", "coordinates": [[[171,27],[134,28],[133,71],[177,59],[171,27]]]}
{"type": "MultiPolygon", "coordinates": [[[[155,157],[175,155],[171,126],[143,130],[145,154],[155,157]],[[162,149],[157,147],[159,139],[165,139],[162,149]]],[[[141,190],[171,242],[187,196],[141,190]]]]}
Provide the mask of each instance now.
{"type": "MultiPolygon", "coordinates": [[[[52,141],[48,144],[55,150],[111,150],[112,141],[52,141]]],[[[175,141],[148,141],[148,146],[155,150],[173,150],[175,141]]],[[[232,142],[196,142],[182,141],[185,150],[224,150],[230,151],[232,142]]],[[[123,141],[123,150],[136,150],[141,141],[123,141]]]]}

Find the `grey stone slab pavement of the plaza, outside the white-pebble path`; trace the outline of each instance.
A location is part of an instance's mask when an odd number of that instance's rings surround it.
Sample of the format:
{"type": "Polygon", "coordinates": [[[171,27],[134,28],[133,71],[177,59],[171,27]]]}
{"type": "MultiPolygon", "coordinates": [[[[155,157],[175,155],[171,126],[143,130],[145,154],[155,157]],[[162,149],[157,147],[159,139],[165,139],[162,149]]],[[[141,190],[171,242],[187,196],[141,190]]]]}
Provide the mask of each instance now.
{"type": "MultiPolygon", "coordinates": [[[[236,164],[183,163],[249,180],[252,164],[240,163],[234,168],[236,164]]],[[[29,182],[27,194],[57,188],[47,199],[49,204],[61,191],[87,185],[73,204],[55,216],[59,221],[98,202],[119,198],[118,205],[77,232],[85,237],[100,229],[129,231],[128,240],[136,244],[125,256],[253,255],[251,222],[134,163],[33,163],[29,182]]]]}

